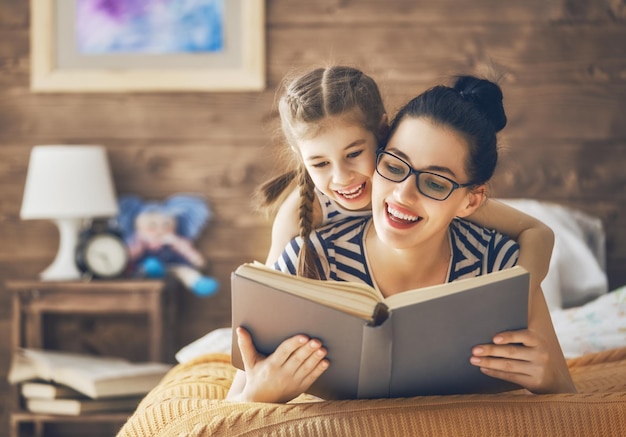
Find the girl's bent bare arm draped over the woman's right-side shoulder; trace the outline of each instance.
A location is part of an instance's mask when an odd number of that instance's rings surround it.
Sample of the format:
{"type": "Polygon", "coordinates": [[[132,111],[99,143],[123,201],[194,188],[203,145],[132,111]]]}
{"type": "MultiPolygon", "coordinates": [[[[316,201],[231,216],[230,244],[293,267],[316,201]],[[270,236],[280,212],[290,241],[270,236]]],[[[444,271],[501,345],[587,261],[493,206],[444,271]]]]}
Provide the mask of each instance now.
{"type": "Polygon", "coordinates": [[[554,247],[554,232],[543,222],[523,212],[487,199],[471,216],[473,223],[509,236],[520,246],[518,265],[530,272],[530,289],[541,286],[550,267],[554,247]]]}

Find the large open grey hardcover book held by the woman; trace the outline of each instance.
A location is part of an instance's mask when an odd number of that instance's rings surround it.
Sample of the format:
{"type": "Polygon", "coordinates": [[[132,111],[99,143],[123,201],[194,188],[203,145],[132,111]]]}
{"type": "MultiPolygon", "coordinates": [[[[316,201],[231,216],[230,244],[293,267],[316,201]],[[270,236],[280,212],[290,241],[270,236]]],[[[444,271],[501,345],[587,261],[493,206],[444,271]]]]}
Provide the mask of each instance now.
{"type": "MultiPolygon", "coordinates": [[[[383,298],[364,284],[317,281],[243,264],[231,276],[232,326],[272,353],[298,333],[321,340],[330,367],[308,390],[325,399],[507,391],[471,349],[525,329],[529,274],[513,267],[383,298]]],[[[233,329],[232,363],[243,369],[233,329]]]]}

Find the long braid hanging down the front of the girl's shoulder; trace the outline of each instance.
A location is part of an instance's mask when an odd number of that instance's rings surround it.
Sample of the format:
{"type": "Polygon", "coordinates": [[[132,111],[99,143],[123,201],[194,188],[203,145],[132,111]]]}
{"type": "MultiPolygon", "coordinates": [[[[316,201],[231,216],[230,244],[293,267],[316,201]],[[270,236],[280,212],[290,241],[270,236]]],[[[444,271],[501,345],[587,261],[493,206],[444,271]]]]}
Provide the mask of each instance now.
{"type": "Polygon", "coordinates": [[[300,226],[300,238],[302,246],[298,254],[298,276],[305,278],[320,279],[320,273],[316,267],[316,257],[309,245],[310,235],[313,228],[313,202],[315,201],[315,185],[305,168],[301,168],[298,174],[300,186],[300,208],[298,211],[298,224],[300,226]]]}

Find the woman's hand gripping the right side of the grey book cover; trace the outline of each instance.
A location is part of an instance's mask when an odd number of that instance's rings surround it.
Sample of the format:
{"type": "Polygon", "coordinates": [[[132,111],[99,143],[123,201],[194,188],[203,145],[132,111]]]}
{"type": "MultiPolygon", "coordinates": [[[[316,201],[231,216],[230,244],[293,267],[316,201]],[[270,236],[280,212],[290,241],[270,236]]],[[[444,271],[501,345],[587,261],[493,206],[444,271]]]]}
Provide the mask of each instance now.
{"type": "Polygon", "coordinates": [[[485,375],[516,383],[537,394],[571,390],[569,375],[559,374],[548,342],[537,332],[502,332],[493,342],[472,349],[470,362],[485,375]]]}

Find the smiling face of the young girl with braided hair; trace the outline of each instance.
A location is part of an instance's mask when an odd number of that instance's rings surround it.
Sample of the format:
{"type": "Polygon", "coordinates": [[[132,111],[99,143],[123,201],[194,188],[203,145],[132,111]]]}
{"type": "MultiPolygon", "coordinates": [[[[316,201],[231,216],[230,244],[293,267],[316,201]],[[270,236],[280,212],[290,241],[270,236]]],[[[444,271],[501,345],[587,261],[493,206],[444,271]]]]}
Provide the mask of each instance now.
{"type": "Polygon", "coordinates": [[[298,141],[317,189],[352,211],[370,208],[377,147],[372,132],[345,119],[333,120],[315,137],[298,141]]]}

